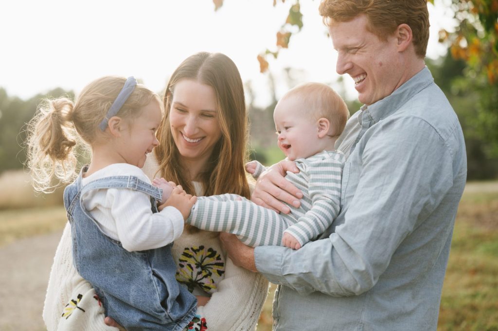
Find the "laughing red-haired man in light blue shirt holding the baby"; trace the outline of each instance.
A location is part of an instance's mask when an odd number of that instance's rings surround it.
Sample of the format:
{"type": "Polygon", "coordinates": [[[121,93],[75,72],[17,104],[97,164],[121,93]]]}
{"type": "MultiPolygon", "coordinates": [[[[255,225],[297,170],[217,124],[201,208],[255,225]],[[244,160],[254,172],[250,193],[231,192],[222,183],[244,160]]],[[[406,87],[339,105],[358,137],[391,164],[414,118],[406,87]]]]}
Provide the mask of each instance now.
{"type": "MultiPolygon", "coordinates": [[[[340,215],[299,250],[223,240],[237,264],[280,285],[274,330],[436,330],[467,163],[458,118],[424,65],[426,0],[324,0],[320,14],[337,72],[365,104],[336,144],[348,156],[340,215]]],[[[288,212],[271,197],[297,203],[285,170],[296,171],[282,162],[260,177],[252,200],[288,212]]]]}

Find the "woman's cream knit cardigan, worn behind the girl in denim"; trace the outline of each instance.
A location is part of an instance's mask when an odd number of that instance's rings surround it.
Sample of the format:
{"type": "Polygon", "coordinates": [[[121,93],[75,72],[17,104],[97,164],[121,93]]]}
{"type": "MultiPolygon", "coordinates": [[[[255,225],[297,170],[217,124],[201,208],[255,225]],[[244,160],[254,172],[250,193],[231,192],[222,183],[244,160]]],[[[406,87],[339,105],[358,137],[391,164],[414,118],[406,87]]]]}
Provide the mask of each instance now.
{"type": "MultiPolygon", "coordinates": [[[[155,158],[149,154],[143,171],[152,179],[157,168],[155,158]]],[[[199,185],[196,192],[202,193],[199,185]]],[[[178,261],[185,247],[201,245],[220,253],[225,272],[215,280],[216,292],[206,306],[198,308],[197,315],[206,319],[207,331],[253,331],[266,299],[268,282],[260,274],[234,265],[217,232],[184,231],[173,244],[173,257],[178,261]]],[[[117,331],[104,324],[104,317],[94,289],[73,265],[71,226],[67,223],[50,272],[43,321],[47,331],[117,331]]]]}

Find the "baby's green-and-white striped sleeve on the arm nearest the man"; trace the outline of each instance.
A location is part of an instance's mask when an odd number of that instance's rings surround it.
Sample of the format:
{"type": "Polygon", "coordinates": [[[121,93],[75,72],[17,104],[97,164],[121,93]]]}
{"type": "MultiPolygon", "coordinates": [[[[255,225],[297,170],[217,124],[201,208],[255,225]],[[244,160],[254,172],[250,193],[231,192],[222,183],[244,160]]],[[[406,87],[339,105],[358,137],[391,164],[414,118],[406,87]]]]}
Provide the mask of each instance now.
{"type": "Polygon", "coordinates": [[[284,233],[304,245],[325,231],[339,214],[343,162],[331,157],[312,161],[306,168],[311,208],[284,233]]]}

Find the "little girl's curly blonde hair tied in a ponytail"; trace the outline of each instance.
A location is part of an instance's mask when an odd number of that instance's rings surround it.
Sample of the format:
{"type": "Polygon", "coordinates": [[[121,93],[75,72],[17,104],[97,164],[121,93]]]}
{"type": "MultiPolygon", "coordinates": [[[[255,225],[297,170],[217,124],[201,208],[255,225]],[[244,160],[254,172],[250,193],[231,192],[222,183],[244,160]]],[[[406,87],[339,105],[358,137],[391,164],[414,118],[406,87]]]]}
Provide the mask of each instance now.
{"type": "MultiPolygon", "coordinates": [[[[76,147],[89,150],[106,137],[99,124],[125,81],[122,77],[103,77],[88,84],[74,102],[62,97],[40,104],[28,123],[26,141],[27,167],[36,191],[53,192],[77,176],[76,147]]],[[[155,93],[137,85],[117,116],[134,118],[153,99],[160,103],[155,93]]]]}

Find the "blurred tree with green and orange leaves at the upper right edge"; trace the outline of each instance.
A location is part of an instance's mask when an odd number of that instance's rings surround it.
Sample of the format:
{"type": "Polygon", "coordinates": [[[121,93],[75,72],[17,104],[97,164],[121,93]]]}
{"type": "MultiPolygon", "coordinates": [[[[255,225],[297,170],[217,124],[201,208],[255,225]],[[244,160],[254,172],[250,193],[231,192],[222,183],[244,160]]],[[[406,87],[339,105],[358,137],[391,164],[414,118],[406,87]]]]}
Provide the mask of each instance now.
{"type": "Polygon", "coordinates": [[[474,96],[471,108],[475,111],[468,124],[474,136],[487,142],[483,153],[497,158],[498,0],[452,0],[451,8],[458,26],[454,32],[441,30],[439,41],[465,64],[463,75],[452,80],[452,89],[474,96]]]}

